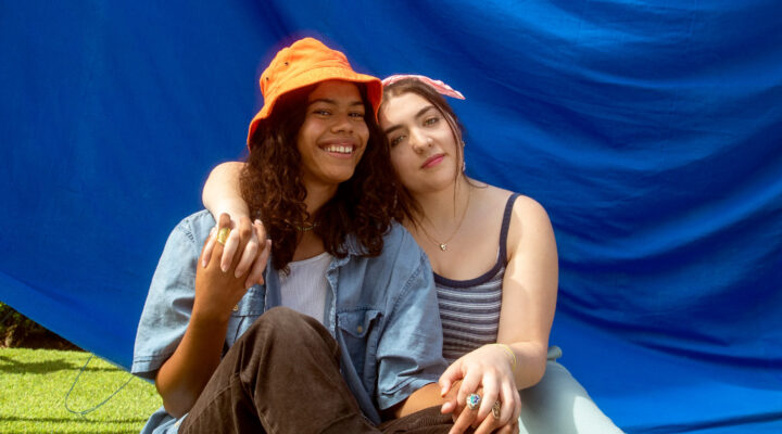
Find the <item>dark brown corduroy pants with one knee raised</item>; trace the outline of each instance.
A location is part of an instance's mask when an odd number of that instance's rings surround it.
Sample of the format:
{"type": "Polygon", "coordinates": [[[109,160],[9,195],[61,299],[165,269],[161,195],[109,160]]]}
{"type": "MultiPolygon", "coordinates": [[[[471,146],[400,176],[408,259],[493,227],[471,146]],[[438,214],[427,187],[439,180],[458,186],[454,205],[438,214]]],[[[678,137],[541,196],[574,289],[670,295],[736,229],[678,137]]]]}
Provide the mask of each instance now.
{"type": "Polygon", "coordinates": [[[375,426],[342,379],[340,349],[317,320],[270,309],[228,350],[180,433],[447,433],[439,407],[375,426]]]}

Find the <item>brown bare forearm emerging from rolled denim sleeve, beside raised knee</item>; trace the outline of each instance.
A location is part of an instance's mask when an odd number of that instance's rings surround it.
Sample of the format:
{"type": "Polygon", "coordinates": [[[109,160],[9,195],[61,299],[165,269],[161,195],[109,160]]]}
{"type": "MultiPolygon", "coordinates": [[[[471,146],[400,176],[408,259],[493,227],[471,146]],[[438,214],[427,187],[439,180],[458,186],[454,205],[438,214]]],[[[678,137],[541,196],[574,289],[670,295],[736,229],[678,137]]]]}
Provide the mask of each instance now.
{"type": "Polygon", "coordinates": [[[219,365],[227,324],[227,318],[206,318],[193,312],[182,341],[155,379],[169,414],[178,418],[195,404],[219,365]]]}

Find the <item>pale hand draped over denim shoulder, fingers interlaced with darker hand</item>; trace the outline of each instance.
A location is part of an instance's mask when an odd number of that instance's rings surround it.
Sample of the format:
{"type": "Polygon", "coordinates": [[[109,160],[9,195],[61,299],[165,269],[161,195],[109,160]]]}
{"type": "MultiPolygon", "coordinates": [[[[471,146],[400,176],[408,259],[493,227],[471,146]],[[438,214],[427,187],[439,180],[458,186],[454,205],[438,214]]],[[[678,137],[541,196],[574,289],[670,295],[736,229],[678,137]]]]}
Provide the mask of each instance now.
{"type": "MultiPolygon", "coordinates": [[[[222,214],[220,218],[223,218],[223,215],[227,214],[222,214]]],[[[223,247],[223,257],[220,259],[220,269],[225,272],[234,261],[235,255],[237,253],[240,254],[241,258],[239,264],[236,266],[234,275],[235,277],[239,277],[245,275],[248,270],[250,271],[244,281],[244,288],[250,288],[255,283],[264,283],[263,273],[264,270],[266,270],[266,264],[268,263],[268,257],[272,253],[272,240],[266,240],[266,229],[261,220],[255,220],[252,225],[252,230],[249,233],[242,232],[241,228],[244,227],[243,225],[249,224],[249,221],[250,219],[244,216],[240,217],[238,222],[230,219],[228,226],[226,227],[230,228],[231,232],[228,235],[228,240],[226,240],[225,246],[223,247]],[[236,228],[240,229],[236,230],[236,228]],[[263,242],[261,242],[261,240],[263,240],[263,242]],[[243,251],[239,252],[240,248],[243,248],[243,251]]],[[[215,230],[213,230],[210,235],[201,255],[202,267],[206,267],[206,264],[209,264],[212,257],[215,244],[217,244],[216,228],[217,226],[215,226],[215,230]]]]}

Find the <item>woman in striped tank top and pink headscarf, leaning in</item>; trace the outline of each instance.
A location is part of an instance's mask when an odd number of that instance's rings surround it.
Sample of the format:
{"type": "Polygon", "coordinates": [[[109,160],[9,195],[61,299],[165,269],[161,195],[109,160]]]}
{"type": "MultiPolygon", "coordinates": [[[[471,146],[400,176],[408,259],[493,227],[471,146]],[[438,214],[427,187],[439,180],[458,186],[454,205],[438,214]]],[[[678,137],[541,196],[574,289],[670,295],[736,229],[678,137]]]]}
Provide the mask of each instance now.
{"type": "MultiPolygon", "coordinates": [[[[462,127],[442,97],[464,99],[459,92],[424,76],[392,76],[383,85],[379,120],[403,186],[402,221],[436,273],[451,363],[439,382],[443,392],[458,390],[442,408],[456,420],[452,432],[491,432],[520,416],[521,433],[620,433],[555,361],[558,348],[548,348],[558,266],[545,209],[467,177],[462,127]]],[[[203,194],[209,209],[248,214],[236,191],[241,167],[225,163],[212,171],[203,194]]],[[[240,244],[229,240],[223,260],[240,244]]],[[[255,260],[241,255],[240,267],[255,260]]]]}

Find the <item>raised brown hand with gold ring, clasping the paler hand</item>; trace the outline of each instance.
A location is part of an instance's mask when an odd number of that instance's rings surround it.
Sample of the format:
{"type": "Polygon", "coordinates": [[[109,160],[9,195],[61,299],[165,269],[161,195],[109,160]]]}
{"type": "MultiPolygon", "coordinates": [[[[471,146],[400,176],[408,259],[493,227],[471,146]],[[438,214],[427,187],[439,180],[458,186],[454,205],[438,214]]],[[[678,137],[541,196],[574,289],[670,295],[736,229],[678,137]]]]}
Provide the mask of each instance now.
{"type": "MultiPolygon", "coordinates": [[[[230,217],[227,214],[222,214],[217,228],[212,229],[212,235],[204,243],[201,250],[201,257],[203,258],[206,247],[210,244],[210,240],[216,238],[216,233],[222,228],[228,228],[231,225],[230,217]]],[[[252,232],[250,220],[244,218],[240,221],[240,229],[236,232],[240,232],[239,238],[247,240],[252,232]]],[[[231,231],[234,232],[234,231],[231,231]]],[[[227,320],[231,309],[244,296],[248,288],[244,285],[247,276],[236,276],[235,268],[236,261],[231,264],[225,272],[222,270],[219,261],[223,256],[224,246],[219,243],[213,243],[213,258],[206,261],[205,267],[198,267],[195,270],[195,301],[193,302],[193,315],[199,312],[200,315],[206,315],[207,317],[220,318],[227,320]]],[[[243,247],[240,247],[240,254],[243,247]]]]}

